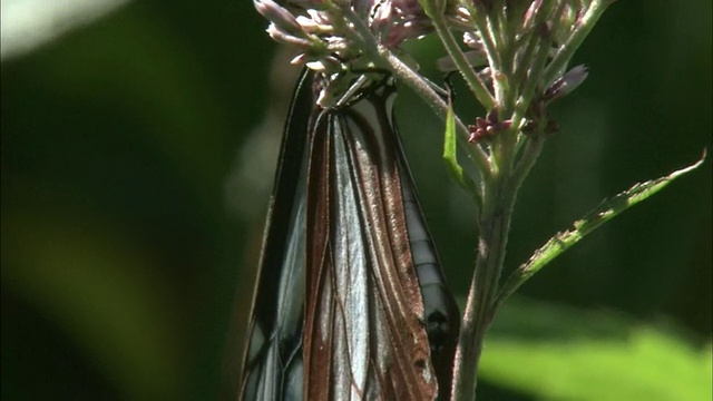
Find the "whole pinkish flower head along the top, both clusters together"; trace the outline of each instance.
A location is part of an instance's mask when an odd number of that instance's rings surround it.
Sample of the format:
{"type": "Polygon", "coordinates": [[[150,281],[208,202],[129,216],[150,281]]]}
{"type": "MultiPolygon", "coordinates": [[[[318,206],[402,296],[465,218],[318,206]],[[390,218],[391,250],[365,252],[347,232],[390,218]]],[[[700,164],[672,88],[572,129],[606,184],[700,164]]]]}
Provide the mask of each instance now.
{"type": "Polygon", "coordinates": [[[318,100],[322,106],[338,101],[363,71],[385,70],[412,88],[421,86],[417,92],[439,109],[438,95],[422,77],[400,75],[400,67],[388,60],[404,60],[400,46],[406,40],[436,30],[448,52],[439,68],[460,71],[488,113],[470,129],[459,125],[471,143],[499,131],[551,130],[545,107],[586,78],[584,67],[564,72],[592,20],[612,1],[254,0],[271,22],[270,36],[300,50],[292,62],[324,78],[318,100]]]}

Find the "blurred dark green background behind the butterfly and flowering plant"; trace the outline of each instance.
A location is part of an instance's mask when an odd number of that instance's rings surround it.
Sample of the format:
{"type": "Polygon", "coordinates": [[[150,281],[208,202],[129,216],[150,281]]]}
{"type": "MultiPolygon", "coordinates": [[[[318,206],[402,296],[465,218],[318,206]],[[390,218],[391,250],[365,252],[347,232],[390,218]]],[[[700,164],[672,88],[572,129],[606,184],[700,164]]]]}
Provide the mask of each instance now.
{"type": "MultiPolygon", "coordinates": [[[[232,398],[296,68],[271,67],[250,1],[130,1],[14,51],[47,4],[2,2],[1,398],[232,398]]],[[[553,109],[561,131],[522,189],[508,268],[711,148],[711,11],[627,0],[605,13],[574,61],[588,80],[553,109]]],[[[442,127],[407,90],[397,114],[463,294],[476,233],[442,127]]],[[[706,162],[528,282],[496,319],[480,398],[710,400],[711,188],[706,162]]]]}

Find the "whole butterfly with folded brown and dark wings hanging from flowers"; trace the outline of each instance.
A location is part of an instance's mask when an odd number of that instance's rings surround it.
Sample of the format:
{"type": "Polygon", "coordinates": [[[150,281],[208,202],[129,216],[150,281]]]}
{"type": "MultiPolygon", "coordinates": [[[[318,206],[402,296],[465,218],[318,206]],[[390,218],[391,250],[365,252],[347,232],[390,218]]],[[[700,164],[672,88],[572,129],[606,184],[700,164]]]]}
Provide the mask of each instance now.
{"type": "Polygon", "coordinates": [[[305,69],[280,151],[243,363],[243,400],[433,400],[459,330],[384,72],[329,107],[305,69]]]}

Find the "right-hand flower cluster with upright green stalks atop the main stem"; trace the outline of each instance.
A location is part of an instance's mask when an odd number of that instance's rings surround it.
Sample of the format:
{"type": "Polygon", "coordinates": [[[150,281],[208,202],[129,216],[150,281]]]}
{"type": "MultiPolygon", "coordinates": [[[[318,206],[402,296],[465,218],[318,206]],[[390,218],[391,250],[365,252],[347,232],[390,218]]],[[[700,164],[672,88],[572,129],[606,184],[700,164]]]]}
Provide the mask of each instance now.
{"type": "Polygon", "coordinates": [[[546,106],[587,77],[584,66],[563,72],[579,45],[592,4],[592,0],[473,0],[456,8],[448,28],[462,31],[467,50],[451,47],[438,65],[443,71],[460,70],[489,111],[469,126],[470,143],[494,138],[512,123],[516,133],[526,135],[556,130],[546,106]],[[465,62],[458,63],[458,58],[465,62]],[[494,120],[498,115],[502,121],[494,120]]]}

